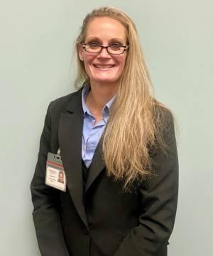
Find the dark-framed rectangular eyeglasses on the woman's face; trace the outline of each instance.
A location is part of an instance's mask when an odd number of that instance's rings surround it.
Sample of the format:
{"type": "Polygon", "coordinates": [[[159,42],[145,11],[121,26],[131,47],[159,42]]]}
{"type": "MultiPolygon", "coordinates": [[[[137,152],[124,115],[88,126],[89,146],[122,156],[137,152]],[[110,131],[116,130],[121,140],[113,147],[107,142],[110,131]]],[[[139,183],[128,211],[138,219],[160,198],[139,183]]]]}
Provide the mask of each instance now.
{"type": "Polygon", "coordinates": [[[116,45],[116,44],[103,46],[97,43],[82,43],[81,45],[86,52],[99,53],[102,51],[103,48],[106,48],[107,52],[113,55],[123,54],[129,48],[129,45],[116,45]]]}

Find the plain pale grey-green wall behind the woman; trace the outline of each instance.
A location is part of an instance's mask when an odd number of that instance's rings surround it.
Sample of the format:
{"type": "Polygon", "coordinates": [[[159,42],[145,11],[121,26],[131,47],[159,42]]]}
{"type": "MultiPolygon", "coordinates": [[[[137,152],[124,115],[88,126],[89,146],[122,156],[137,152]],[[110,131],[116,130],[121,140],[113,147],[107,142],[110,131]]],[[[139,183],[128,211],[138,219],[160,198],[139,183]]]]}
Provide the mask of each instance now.
{"type": "Polygon", "coordinates": [[[169,255],[213,255],[212,1],[0,4],[0,255],[40,255],[29,187],[45,112],[50,101],[74,91],[74,40],[84,16],[103,5],[135,21],[155,95],[178,121],[180,194],[169,255]]]}

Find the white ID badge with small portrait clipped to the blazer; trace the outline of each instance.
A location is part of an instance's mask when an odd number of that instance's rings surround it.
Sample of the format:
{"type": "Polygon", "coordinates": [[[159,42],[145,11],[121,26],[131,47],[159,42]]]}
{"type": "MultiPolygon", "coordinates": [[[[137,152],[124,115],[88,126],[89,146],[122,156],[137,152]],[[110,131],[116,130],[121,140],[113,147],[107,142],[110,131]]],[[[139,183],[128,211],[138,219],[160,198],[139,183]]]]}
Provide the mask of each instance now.
{"type": "MultiPolygon", "coordinates": [[[[58,152],[60,152],[60,150],[58,150],[58,152]]],[[[59,153],[55,155],[48,152],[45,184],[55,189],[66,191],[67,179],[59,153]]]]}

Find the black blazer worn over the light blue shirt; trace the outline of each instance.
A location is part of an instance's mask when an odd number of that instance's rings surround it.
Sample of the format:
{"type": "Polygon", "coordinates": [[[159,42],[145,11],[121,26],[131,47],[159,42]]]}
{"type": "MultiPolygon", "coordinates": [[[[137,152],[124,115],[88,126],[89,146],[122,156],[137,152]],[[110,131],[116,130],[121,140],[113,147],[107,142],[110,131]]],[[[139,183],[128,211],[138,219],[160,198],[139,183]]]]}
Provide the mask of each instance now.
{"type": "Polygon", "coordinates": [[[42,256],[166,256],[178,199],[178,155],[167,115],[168,153],[155,153],[155,176],[133,191],[107,177],[101,142],[82,187],[82,89],[50,103],[31,182],[42,256]],[[45,185],[48,152],[61,150],[67,191],[45,185]]]}

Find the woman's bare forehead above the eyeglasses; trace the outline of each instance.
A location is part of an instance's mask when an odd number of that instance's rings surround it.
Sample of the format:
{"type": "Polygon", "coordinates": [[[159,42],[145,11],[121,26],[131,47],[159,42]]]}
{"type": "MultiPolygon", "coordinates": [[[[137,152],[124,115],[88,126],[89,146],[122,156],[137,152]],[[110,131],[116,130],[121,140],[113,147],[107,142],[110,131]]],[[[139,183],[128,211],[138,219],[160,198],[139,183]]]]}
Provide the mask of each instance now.
{"type": "Polygon", "coordinates": [[[85,40],[89,40],[89,38],[99,38],[101,40],[118,38],[126,41],[126,28],[120,21],[114,18],[94,18],[87,25],[85,40]]]}

